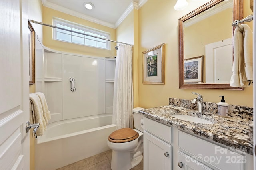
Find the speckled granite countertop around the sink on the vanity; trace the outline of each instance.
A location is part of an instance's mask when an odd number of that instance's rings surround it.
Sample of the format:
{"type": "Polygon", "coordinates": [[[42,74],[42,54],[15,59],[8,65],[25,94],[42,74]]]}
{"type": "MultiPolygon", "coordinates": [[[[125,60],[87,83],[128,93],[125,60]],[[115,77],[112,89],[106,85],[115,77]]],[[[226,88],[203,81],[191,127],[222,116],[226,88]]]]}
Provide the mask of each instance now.
{"type": "Polygon", "coordinates": [[[202,136],[208,140],[224,144],[232,149],[253,155],[253,147],[249,145],[249,128],[252,121],[237,117],[219,117],[215,113],[200,114],[196,110],[178,106],[160,106],[139,111],[145,117],[160,121],[166,125],[172,125],[181,130],[202,136]],[[172,117],[174,114],[191,115],[200,117],[213,124],[193,123],[172,117]]]}

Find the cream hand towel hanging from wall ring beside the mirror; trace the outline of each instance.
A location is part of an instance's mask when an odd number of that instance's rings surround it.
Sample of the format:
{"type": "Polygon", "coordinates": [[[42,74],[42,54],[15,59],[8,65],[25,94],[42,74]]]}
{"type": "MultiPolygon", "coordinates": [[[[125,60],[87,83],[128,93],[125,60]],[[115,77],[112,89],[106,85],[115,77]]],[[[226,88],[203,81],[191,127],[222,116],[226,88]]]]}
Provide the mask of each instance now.
{"type": "Polygon", "coordinates": [[[234,31],[234,61],[230,86],[248,87],[253,80],[252,71],[252,30],[247,24],[241,24],[243,32],[237,27],[234,31]]]}

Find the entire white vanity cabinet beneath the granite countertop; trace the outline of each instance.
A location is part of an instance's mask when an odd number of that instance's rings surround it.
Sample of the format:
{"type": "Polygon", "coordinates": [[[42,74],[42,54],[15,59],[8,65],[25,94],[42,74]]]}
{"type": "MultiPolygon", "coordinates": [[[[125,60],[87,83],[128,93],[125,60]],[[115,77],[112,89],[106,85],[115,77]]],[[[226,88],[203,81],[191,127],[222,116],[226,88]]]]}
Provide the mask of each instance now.
{"type": "Polygon", "coordinates": [[[251,170],[253,156],[144,117],[144,170],[251,170]]]}

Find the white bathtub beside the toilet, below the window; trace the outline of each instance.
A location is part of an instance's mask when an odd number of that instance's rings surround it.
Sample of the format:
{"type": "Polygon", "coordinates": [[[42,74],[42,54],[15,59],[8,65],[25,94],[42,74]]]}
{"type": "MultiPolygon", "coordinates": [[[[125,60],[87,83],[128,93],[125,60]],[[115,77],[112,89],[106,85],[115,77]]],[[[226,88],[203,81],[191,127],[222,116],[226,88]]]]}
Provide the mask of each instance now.
{"type": "Polygon", "coordinates": [[[112,113],[50,123],[35,144],[36,170],[54,170],[109,150],[112,113]]]}

